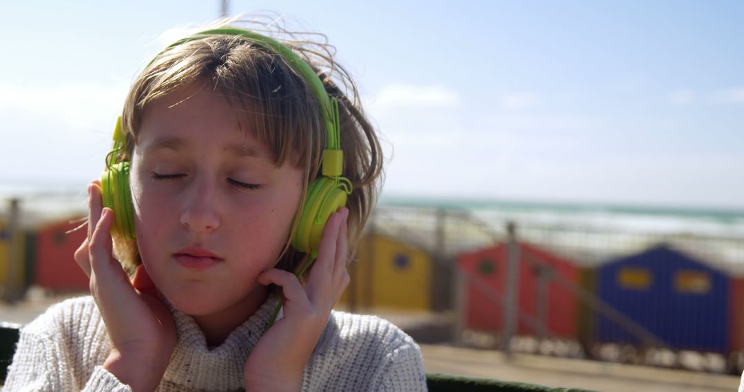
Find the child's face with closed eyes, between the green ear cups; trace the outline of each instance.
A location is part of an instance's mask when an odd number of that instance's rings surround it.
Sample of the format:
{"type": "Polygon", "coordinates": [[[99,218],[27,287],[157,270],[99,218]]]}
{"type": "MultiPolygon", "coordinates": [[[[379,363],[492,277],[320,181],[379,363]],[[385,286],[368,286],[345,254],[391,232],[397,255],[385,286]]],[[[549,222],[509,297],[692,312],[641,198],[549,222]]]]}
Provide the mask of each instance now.
{"type": "Polygon", "coordinates": [[[144,111],[132,156],[144,267],[187,314],[263,301],[256,277],[277,261],[300,202],[304,171],[276,167],[236,113],[219,93],[168,94],[144,111]]]}

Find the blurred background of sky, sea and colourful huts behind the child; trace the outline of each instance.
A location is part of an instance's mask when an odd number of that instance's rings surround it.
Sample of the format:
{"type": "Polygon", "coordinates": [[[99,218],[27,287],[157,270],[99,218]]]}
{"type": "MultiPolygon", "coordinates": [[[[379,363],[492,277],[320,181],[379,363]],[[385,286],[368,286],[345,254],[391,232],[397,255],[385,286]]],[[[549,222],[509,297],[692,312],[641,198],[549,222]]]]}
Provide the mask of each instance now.
{"type": "Polygon", "coordinates": [[[382,134],[339,308],[399,324],[428,371],[736,387],[740,1],[4,4],[0,321],[85,292],[68,231],[129,84],[184,29],[240,13],[326,34],[382,134]]]}

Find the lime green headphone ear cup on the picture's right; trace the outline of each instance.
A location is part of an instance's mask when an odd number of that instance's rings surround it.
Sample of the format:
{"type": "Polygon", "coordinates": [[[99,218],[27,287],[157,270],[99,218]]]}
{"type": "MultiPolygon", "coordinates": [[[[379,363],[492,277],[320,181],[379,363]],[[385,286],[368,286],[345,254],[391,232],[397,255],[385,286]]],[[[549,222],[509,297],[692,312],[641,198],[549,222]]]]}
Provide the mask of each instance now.
{"type": "Polygon", "coordinates": [[[300,252],[316,253],[328,218],[339,208],[346,206],[347,194],[330,177],[320,177],[307,187],[307,197],[292,247],[300,252]]]}

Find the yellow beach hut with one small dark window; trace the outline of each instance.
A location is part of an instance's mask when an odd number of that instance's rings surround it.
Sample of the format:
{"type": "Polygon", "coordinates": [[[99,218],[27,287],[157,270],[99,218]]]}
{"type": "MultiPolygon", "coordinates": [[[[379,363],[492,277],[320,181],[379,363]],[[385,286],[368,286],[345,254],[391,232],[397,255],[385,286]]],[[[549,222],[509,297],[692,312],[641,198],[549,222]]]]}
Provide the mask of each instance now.
{"type": "Polygon", "coordinates": [[[432,255],[380,233],[359,243],[349,269],[351,282],[341,303],[350,307],[430,310],[432,255]]]}

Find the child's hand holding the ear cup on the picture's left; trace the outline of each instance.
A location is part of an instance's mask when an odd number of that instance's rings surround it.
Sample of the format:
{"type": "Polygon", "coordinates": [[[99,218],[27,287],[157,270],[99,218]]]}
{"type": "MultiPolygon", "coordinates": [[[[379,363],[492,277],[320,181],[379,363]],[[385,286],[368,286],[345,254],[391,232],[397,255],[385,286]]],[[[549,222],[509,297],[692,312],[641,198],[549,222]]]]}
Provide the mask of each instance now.
{"type": "Polygon", "coordinates": [[[103,208],[100,182],[89,186],[88,238],[75,261],[90,278],[90,290],[113,345],[103,367],[133,391],[154,391],[176,347],[176,327],[143,266],[130,282],[112,256],[111,209],[103,208]]]}

